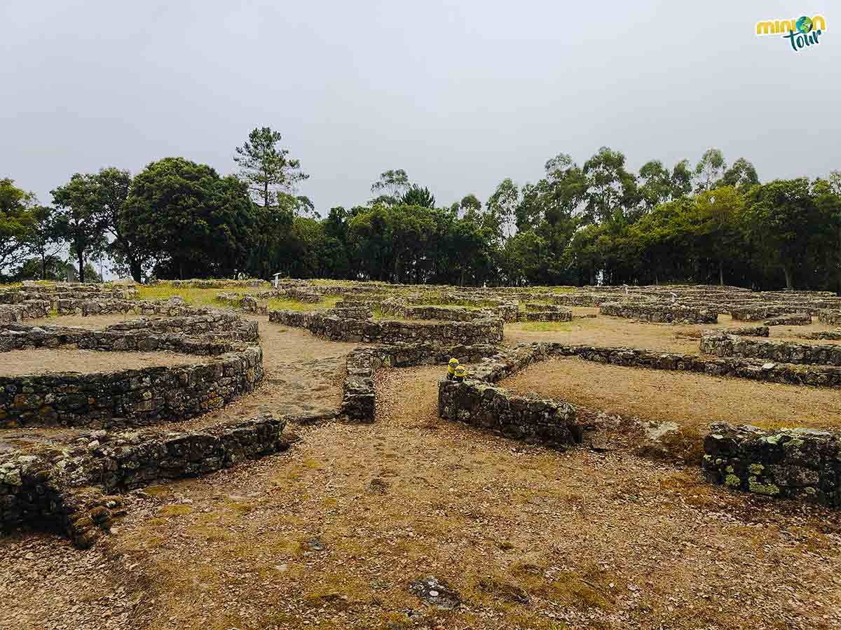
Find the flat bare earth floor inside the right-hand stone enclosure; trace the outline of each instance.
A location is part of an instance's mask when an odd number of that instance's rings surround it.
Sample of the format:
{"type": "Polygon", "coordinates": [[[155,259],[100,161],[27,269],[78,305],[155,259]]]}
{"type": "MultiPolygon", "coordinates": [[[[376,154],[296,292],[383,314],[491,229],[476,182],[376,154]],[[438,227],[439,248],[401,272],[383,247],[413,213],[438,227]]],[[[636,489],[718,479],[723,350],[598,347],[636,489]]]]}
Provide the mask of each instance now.
{"type": "Polygon", "coordinates": [[[837,390],[604,365],[578,358],[542,361],[500,383],[589,409],[675,422],[841,428],[837,390]]]}

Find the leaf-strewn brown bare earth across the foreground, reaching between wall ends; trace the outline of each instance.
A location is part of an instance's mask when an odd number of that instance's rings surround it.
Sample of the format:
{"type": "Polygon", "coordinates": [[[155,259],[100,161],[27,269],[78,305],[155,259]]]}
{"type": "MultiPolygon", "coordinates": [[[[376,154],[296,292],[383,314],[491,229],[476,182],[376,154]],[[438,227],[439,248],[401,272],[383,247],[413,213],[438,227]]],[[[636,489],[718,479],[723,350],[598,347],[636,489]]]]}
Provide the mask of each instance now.
{"type": "Polygon", "coordinates": [[[438,367],[378,375],[378,423],[134,494],[89,552],[0,540],[8,628],[799,628],[841,623],[837,516],[631,455],[436,416],[438,367]],[[435,575],[453,612],[408,591],[435,575]],[[49,597],[45,597],[49,593],[49,597]]]}

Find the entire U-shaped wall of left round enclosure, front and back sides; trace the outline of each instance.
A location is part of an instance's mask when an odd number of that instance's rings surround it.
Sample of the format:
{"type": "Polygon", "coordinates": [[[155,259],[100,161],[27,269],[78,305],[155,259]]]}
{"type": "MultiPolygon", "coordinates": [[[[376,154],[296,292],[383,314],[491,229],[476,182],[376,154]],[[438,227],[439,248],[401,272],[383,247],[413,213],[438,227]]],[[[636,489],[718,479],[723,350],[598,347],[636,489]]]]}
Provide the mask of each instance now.
{"type": "Polygon", "coordinates": [[[172,322],[119,323],[100,331],[7,324],[0,328],[0,351],[72,345],[214,358],[196,365],[106,373],[0,376],[0,425],[130,427],[175,422],[222,407],[253,391],[263,377],[262,349],[246,347],[231,336],[256,341],[257,323],[219,313],[172,322]],[[185,330],[204,334],[190,337],[182,333],[185,330]]]}

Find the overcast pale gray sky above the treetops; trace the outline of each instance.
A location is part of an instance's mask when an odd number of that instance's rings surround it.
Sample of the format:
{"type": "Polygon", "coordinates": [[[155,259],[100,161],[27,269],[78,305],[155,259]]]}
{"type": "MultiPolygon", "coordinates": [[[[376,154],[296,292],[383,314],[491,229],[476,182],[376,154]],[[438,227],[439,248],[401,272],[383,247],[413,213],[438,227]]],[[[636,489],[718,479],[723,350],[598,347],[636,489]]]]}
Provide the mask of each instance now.
{"type": "Polygon", "coordinates": [[[820,0],[3,0],[0,59],[0,176],[41,202],[170,155],[234,172],[263,125],[322,214],[389,168],[448,204],[602,145],[633,169],[710,146],[763,181],[841,169],[841,7],[820,0]],[[820,45],[754,35],[803,13],[820,45]]]}

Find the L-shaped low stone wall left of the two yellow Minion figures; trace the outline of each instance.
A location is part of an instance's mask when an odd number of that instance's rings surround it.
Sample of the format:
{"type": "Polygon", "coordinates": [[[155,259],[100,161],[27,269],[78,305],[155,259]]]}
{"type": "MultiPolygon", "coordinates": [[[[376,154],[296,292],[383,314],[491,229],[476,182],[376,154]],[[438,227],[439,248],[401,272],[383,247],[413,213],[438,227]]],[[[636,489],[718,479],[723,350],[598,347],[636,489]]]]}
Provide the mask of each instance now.
{"type": "Polygon", "coordinates": [[[475,363],[495,354],[495,346],[479,344],[450,348],[429,344],[398,344],[375,348],[357,348],[347,355],[340,413],[353,422],[373,423],[373,375],[384,367],[446,364],[452,357],[463,363],[475,363]]]}

